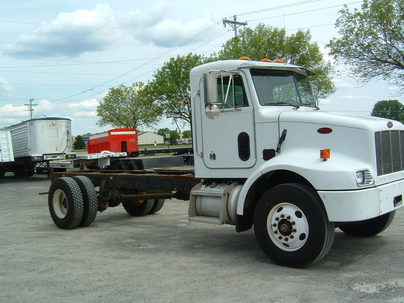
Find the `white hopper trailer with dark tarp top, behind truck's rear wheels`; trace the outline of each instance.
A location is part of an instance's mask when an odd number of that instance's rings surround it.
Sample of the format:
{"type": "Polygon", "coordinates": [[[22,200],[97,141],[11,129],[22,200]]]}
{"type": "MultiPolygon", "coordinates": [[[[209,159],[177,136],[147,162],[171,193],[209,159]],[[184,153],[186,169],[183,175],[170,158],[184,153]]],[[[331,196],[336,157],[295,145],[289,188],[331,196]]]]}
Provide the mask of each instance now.
{"type": "Polygon", "coordinates": [[[6,172],[32,176],[38,163],[75,157],[75,153],[72,153],[70,119],[35,118],[6,129],[11,132],[14,160],[0,163],[0,178],[6,172]]]}

